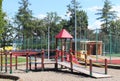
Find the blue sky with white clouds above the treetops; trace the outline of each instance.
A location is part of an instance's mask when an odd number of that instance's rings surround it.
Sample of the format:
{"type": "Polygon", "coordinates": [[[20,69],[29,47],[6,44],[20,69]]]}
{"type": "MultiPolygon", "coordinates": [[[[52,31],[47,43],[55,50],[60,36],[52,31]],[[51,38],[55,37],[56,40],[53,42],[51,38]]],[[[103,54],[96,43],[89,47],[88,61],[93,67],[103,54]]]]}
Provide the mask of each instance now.
{"type": "MultiPolygon", "coordinates": [[[[7,13],[9,18],[14,17],[18,12],[19,4],[21,0],[3,0],[3,11],[7,13]]],[[[82,6],[82,10],[86,11],[88,15],[89,29],[100,28],[101,22],[96,20],[99,16],[96,16],[97,9],[103,8],[104,0],[76,0],[82,6]]],[[[117,11],[117,15],[120,17],[120,0],[110,0],[113,10],[117,11]]],[[[67,5],[71,0],[29,0],[31,5],[29,9],[35,17],[43,18],[47,12],[57,12],[59,16],[67,19],[67,5]]]]}

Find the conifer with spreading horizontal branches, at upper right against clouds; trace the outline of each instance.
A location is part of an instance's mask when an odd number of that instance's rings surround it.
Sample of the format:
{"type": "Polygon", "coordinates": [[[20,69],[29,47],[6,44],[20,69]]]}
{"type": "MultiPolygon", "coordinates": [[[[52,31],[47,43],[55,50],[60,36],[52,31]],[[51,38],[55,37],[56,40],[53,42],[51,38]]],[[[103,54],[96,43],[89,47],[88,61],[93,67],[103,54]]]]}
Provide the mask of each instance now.
{"type": "Polygon", "coordinates": [[[103,22],[101,26],[103,31],[106,33],[110,33],[109,24],[113,19],[116,18],[116,12],[112,11],[111,9],[111,2],[109,0],[105,0],[103,8],[99,9],[98,13],[96,13],[96,15],[100,15],[97,20],[101,20],[101,22],[103,22]]]}

